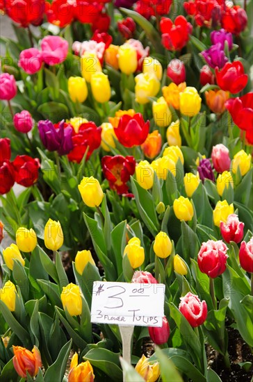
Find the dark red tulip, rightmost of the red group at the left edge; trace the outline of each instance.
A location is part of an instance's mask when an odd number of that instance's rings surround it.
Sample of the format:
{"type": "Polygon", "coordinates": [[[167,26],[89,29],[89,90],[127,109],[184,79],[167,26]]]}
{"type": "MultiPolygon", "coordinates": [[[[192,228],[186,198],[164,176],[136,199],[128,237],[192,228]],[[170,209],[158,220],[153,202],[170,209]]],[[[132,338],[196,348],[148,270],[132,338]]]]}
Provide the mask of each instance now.
{"type": "Polygon", "coordinates": [[[15,181],[24,187],[33,185],[39,177],[40,160],[28,155],[18,155],[13,161],[15,181]]]}

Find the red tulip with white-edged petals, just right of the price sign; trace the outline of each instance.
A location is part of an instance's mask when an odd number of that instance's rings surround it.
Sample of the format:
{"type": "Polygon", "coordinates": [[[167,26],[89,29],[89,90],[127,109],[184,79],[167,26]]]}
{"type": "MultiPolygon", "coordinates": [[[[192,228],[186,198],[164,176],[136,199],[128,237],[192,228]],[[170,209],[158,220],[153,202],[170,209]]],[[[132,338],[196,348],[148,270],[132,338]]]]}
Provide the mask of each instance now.
{"type": "Polygon", "coordinates": [[[200,301],[199,297],[188,292],[180,297],[179,310],[193,328],[202,325],[207,317],[206,301],[200,301]]]}

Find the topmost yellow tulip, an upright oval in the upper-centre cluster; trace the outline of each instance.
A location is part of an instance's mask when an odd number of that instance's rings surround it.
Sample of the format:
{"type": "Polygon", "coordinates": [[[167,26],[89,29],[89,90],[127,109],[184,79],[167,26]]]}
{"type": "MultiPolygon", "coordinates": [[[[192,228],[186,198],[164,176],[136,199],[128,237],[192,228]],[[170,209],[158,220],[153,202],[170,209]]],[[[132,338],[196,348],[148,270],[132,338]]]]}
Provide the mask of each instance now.
{"type": "Polygon", "coordinates": [[[122,73],[129,74],[136,72],[138,61],[136,49],[130,44],[124,44],[118,51],[118,64],[122,73]]]}

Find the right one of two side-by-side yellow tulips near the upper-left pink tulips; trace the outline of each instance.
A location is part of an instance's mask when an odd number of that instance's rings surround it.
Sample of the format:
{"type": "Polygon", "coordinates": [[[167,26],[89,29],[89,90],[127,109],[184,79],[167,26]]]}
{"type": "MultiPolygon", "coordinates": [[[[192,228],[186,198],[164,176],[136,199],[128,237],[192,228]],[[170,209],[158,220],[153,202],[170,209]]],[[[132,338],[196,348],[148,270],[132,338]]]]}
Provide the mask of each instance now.
{"type": "Polygon", "coordinates": [[[104,73],[92,74],[90,79],[92,95],[97,102],[105,103],[111,98],[111,85],[104,73]]]}

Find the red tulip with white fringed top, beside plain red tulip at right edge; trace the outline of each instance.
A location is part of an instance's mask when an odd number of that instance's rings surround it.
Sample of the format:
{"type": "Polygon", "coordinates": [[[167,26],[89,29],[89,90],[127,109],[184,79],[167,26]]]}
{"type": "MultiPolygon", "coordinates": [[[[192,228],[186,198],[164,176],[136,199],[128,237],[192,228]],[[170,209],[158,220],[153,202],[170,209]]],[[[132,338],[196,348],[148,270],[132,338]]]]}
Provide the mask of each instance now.
{"type": "Polygon", "coordinates": [[[207,274],[212,279],[220,276],[226,270],[227,245],[218,240],[208,240],[203,242],[197,255],[197,264],[202,273],[207,274]]]}

